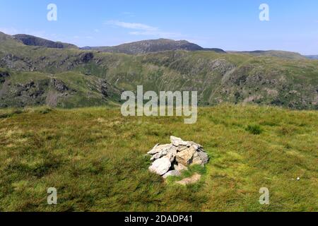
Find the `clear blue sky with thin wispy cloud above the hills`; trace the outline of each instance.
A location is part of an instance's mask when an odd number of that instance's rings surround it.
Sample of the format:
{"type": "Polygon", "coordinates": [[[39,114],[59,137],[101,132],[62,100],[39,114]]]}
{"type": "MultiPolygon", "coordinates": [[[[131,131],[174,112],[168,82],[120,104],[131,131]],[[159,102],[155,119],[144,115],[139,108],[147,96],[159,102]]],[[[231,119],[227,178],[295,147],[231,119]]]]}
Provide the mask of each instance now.
{"type": "Polygon", "coordinates": [[[318,54],[317,0],[0,0],[0,30],[80,47],[159,37],[225,50],[318,54]],[[57,5],[57,21],[47,5],[57,5]],[[269,21],[259,20],[260,4],[269,21]]]}

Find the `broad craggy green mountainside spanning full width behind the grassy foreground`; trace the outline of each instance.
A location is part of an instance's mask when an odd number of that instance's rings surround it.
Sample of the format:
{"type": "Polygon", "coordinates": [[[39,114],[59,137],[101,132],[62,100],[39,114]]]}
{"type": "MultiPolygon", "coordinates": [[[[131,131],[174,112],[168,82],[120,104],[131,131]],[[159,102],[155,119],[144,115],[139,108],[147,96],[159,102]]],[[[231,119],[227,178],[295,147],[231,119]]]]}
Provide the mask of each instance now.
{"type": "Polygon", "coordinates": [[[222,102],[318,109],[318,61],[170,50],[117,54],[32,47],[0,35],[0,107],[119,104],[122,90],[198,91],[222,102]]]}

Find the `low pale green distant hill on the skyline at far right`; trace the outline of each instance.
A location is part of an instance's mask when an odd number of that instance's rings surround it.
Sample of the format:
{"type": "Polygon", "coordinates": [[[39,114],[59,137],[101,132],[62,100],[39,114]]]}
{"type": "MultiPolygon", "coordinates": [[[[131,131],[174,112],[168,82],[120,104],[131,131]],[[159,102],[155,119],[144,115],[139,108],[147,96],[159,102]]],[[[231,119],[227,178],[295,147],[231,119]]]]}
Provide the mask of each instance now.
{"type": "Polygon", "coordinates": [[[283,59],[306,59],[305,56],[299,54],[298,52],[287,52],[287,51],[278,51],[278,50],[255,50],[255,51],[242,51],[242,52],[235,52],[232,51],[231,53],[237,54],[252,54],[254,56],[266,56],[266,57],[279,57],[283,59]]]}

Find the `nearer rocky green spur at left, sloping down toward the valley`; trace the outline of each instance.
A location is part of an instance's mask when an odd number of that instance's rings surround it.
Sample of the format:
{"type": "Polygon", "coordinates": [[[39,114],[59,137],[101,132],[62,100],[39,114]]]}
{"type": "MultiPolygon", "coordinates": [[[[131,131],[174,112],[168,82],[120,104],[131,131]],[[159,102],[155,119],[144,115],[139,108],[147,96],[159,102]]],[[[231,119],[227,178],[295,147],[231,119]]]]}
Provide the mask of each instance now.
{"type": "Polygon", "coordinates": [[[40,73],[0,69],[0,108],[47,105],[119,105],[122,90],[105,79],[81,73],[40,73]]]}

